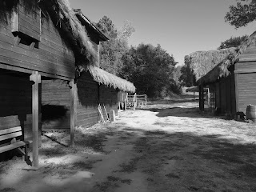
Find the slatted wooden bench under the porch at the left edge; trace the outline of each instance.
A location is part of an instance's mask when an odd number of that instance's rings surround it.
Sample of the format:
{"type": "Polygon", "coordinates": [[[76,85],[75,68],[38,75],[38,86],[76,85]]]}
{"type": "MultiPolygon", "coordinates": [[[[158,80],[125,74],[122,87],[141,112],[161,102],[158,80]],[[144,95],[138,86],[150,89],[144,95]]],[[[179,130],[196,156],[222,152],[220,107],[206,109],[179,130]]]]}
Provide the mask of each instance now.
{"type": "Polygon", "coordinates": [[[0,145],[0,154],[8,150],[17,150],[19,154],[25,157],[25,161],[28,161],[28,147],[30,142],[17,140],[16,138],[19,136],[22,136],[21,126],[0,130],[0,142],[11,139],[10,142],[0,145]],[[25,151],[22,150],[22,148],[24,148],[25,151]]]}

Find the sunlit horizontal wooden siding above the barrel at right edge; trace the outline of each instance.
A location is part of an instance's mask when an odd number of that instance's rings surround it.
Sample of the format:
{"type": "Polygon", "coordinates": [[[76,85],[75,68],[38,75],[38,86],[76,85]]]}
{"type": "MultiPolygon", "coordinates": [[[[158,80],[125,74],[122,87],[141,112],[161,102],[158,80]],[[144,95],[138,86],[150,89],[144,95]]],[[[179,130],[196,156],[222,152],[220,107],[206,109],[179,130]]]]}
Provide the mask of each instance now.
{"type": "Polygon", "coordinates": [[[256,105],[256,73],[238,74],[238,111],[246,112],[246,106],[256,105]]]}

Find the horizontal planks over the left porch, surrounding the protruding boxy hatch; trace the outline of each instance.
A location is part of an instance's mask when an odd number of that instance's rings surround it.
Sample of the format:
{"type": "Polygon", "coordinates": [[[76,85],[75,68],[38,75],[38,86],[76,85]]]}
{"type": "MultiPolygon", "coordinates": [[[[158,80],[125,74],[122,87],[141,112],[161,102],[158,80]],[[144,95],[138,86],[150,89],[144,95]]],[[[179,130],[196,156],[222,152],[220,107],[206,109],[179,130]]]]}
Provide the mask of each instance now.
{"type": "MultiPolygon", "coordinates": [[[[29,13],[22,13],[21,16],[34,20],[29,13]]],[[[41,22],[41,41],[38,43],[38,48],[33,50],[30,49],[30,46],[25,45],[26,43],[19,43],[18,46],[15,46],[11,18],[8,21],[0,22],[0,62],[74,78],[74,54],[68,43],[64,42],[65,40],[58,33],[50,18],[42,18],[41,22]]],[[[25,27],[26,22],[21,22],[21,25],[25,27]]],[[[34,28],[36,27],[38,26],[34,26],[34,28]]],[[[30,33],[28,32],[28,34],[30,33]]]]}

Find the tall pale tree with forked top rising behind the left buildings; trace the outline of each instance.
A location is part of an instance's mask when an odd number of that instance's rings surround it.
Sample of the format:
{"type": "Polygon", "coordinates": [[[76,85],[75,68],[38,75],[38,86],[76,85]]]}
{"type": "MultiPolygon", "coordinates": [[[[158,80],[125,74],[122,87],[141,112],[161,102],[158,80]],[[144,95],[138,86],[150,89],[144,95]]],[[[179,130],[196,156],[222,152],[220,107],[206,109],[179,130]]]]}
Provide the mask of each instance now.
{"type": "Polygon", "coordinates": [[[119,74],[122,69],[122,55],[129,50],[128,38],[134,33],[134,27],[126,22],[121,30],[117,30],[110,18],[104,16],[97,26],[110,38],[101,43],[100,68],[111,74],[119,74]]]}

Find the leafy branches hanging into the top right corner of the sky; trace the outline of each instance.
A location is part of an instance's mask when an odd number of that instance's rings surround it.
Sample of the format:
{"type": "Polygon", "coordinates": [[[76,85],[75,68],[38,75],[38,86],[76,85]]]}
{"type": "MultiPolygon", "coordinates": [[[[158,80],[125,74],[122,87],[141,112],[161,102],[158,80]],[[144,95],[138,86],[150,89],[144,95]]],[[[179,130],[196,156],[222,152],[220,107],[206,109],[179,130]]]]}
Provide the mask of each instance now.
{"type": "Polygon", "coordinates": [[[230,11],[225,16],[225,21],[235,28],[246,26],[256,19],[256,0],[238,1],[236,6],[230,6],[230,11]]]}

